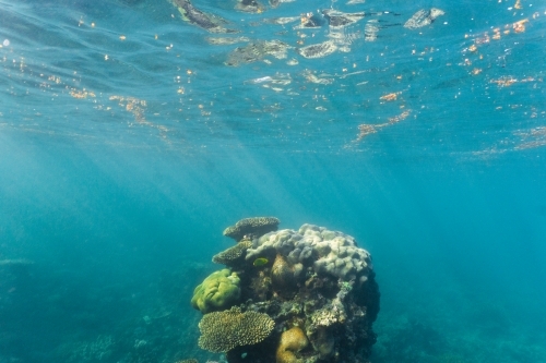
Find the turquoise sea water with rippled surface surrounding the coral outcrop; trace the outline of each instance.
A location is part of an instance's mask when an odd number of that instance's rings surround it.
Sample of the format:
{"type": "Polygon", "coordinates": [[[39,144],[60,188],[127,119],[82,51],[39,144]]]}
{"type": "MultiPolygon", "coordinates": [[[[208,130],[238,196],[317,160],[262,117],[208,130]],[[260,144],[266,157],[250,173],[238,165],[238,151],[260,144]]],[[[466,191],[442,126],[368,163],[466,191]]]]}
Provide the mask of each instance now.
{"type": "Polygon", "coordinates": [[[546,362],[546,4],[192,3],[238,33],[0,0],[0,362],[222,360],[189,300],[252,216],[371,253],[372,362],[546,362]]]}

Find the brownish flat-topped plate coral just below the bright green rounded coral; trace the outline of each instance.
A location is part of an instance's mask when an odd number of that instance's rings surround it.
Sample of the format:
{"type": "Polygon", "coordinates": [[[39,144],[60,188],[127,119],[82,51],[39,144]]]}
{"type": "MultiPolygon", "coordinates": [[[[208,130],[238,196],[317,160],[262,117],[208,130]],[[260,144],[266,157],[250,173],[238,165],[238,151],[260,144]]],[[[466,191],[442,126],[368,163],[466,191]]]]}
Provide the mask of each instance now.
{"type": "Polygon", "coordinates": [[[242,313],[234,306],[223,312],[205,314],[199,323],[199,347],[214,353],[227,352],[236,347],[252,346],[268,338],[275,322],[268,314],[242,313]]]}

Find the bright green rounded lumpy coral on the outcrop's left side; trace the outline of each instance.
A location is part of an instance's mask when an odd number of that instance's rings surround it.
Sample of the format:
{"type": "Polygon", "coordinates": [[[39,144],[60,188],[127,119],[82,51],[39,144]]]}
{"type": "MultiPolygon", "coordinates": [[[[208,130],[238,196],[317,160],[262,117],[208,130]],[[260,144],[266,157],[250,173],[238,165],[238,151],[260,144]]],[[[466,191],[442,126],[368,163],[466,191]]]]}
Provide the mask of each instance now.
{"type": "Polygon", "coordinates": [[[227,268],[212,273],[193,290],[191,305],[203,314],[228,308],[239,300],[239,282],[237,274],[227,268]]]}

